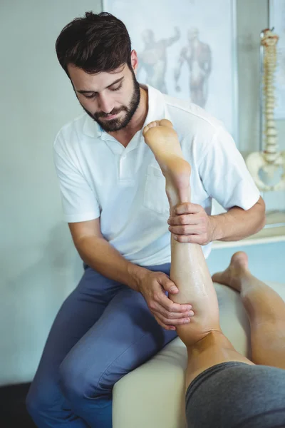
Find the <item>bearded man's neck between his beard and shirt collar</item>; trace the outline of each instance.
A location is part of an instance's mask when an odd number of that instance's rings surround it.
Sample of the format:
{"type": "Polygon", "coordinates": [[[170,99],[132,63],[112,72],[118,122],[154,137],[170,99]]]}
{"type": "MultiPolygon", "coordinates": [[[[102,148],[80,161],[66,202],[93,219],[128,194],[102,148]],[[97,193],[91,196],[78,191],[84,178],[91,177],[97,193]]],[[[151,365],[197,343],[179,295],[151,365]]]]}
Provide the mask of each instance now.
{"type": "Polygon", "coordinates": [[[120,131],[109,132],[110,136],[113,136],[119,143],[123,144],[124,147],[128,146],[131,139],[142,128],[145,123],[148,111],[148,92],[140,88],[140,103],[138,105],[133,118],[131,119],[128,126],[121,129],[120,131]]]}

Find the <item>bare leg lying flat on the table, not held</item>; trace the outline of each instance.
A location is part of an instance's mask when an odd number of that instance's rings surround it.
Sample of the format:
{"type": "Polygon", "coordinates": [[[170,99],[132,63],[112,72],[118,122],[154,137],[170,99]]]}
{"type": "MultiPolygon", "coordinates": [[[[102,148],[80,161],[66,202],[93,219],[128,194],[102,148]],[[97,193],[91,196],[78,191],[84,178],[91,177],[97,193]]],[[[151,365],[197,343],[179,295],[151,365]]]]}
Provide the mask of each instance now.
{"type": "Polygon", "coordinates": [[[285,369],[285,302],[249,272],[247,254],[235,253],[227,270],[212,280],[240,292],[250,322],[253,362],[285,369]]]}

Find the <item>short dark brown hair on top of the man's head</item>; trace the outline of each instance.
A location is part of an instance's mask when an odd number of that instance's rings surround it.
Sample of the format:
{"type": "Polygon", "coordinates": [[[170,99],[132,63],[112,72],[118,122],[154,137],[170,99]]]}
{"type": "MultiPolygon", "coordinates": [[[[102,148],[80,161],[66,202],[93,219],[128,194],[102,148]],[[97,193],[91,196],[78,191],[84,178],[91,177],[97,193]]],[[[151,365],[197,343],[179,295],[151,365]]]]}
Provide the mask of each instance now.
{"type": "Polygon", "coordinates": [[[68,64],[90,74],[113,71],[124,63],[131,68],[130,53],[125,24],[107,12],[86,12],[83,18],[73,19],[56,40],[58,61],[67,75],[68,64]]]}

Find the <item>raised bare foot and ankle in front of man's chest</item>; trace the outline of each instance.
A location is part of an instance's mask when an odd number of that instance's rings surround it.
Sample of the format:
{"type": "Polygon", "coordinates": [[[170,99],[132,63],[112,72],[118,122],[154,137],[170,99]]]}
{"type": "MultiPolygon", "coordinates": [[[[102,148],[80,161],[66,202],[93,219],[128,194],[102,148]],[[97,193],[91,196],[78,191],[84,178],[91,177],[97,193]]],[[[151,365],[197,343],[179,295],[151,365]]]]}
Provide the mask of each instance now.
{"type": "Polygon", "coordinates": [[[142,131],[166,179],[170,208],[190,201],[190,164],[185,161],[172,123],[167,119],[149,123],[142,131]],[[177,198],[178,196],[178,198],[177,198]]]}

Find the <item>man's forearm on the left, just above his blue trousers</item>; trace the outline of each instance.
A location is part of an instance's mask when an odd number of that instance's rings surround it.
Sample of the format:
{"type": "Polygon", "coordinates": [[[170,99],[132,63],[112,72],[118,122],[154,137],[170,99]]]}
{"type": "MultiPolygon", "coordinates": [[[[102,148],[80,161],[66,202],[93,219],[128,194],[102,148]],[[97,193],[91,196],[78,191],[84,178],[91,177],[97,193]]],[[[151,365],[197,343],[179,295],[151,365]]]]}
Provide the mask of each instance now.
{"type": "Polygon", "coordinates": [[[140,278],[147,269],[130,263],[104,238],[86,236],[76,243],[82,260],[101,275],[138,291],[140,278]]]}

